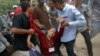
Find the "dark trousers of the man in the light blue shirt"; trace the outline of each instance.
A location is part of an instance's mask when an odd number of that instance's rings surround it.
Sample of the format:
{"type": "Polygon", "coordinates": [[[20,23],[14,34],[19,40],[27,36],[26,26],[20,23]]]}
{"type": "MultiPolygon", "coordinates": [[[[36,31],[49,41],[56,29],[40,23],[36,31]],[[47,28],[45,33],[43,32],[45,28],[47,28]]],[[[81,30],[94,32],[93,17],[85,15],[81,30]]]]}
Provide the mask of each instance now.
{"type": "Polygon", "coordinates": [[[55,51],[58,54],[58,56],[63,56],[61,51],[60,51],[60,46],[61,44],[64,44],[68,53],[68,56],[76,56],[76,54],[74,53],[74,43],[75,40],[69,41],[69,42],[58,42],[55,46],[55,51]]]}

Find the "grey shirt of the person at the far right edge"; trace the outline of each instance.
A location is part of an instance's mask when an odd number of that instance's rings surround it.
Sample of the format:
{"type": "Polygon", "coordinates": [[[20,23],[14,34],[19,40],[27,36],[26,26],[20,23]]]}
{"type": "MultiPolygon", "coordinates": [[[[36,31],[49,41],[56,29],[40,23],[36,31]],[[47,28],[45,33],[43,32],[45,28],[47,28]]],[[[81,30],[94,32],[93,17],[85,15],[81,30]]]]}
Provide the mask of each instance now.
{"type": "Polygon", "coordinates": [[[89,0],[88,5],[92,9],[92,20],[100,21],[100,0],[89,0]]]}

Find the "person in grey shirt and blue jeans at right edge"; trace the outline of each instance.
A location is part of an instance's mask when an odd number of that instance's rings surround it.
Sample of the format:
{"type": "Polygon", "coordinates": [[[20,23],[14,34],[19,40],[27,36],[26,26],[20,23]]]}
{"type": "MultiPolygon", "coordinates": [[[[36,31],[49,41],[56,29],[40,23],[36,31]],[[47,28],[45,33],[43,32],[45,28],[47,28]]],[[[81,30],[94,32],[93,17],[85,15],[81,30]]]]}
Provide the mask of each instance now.
{"type": "Polygon", "coordinates": [[[100,33],[100,1],[99,0],[89,0],[88,1],[88,9],[91,15],[91,28],[92,31],[90,32],[91,37],[96,36],[100,33]]]}

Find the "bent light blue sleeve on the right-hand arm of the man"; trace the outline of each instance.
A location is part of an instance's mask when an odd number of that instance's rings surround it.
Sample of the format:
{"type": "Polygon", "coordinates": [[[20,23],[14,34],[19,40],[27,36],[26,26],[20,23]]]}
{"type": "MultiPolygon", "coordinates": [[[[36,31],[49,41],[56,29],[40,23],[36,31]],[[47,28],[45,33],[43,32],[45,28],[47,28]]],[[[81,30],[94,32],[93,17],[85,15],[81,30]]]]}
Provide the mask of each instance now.
{"type": "Polygon", "coordinates": [[[68,22],[69,26],[82,26],[86,24],[85,17],[76,8],[72,12],[74,13],[75,21],[68,22]]]}

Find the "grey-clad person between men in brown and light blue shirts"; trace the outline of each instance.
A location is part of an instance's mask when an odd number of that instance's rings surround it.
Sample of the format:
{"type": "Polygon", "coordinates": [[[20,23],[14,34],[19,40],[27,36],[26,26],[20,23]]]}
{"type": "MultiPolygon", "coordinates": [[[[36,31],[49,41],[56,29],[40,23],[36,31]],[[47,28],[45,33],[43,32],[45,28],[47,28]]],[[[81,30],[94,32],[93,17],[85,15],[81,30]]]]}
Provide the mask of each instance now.
{"type": "Polygon", "coordinates": [[[56,29],[58,29],[59,23],[56,20],[56,18],[58,18],[57,10],[54,8],[54,5],[51,1],[48,1],[48,6],[49,6],[49,17],[50,17],[50,20],[51,20],[51,24],[56,29]]]}

